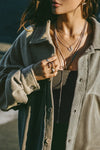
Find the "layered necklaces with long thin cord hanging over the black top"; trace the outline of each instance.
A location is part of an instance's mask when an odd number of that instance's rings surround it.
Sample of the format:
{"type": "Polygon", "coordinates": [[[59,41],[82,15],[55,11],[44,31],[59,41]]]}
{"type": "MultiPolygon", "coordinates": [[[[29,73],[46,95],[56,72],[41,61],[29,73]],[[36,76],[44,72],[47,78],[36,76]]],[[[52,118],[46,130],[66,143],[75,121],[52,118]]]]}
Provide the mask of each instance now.
{"type": "MultiPolygon", "coordinates": [[[[58,116],[57,116],[57,122],[56,123],[59,123],[59,117],[60,117],[60,106],[61,106],[62,86],[63,86],[63,82],[62,82],[63,81],[63,70],[64,69],[68,70],[69,66],[71,65],[71,63],[73,62],[75,57],[77,56],[77,54],[79,52],[78,50],[79,50],[81,42],[82,42],[82,39],[84,37],[86,25],[87,25],[87,22],[85,21],[84,27],[80,33],[79,38],[77,38],[72,43],[72,45],[69,45],[69,46],[66,46],[65,43],[63,42],[63,36],[60,36],[59,33],[57,34],[56,28],[54,30],[55,42],[56,42],[55,44],[57,46],[57,50],[58,50],[60,56],[62,57],[63,64],[64,64],[63,66],[61,66],[61,79],[60,79],[59,83],[56,85],[56,86],[60,85],[60,95],[59,95],[59,102],[58,102],[58,116]],[[60,48],[59,43],[61,45],[63,45],[65,47],[65,49],[71,53],[71,58],[67,58],[67,60],[65,60],[64,54],[62,53],[62,49],[60,48]]],[[[67,43],[67,41],[65,41],[65,42],[67,43]]],[[[67,45],[68,45],[68,43],[67,43],[67,45]]],[[[69,75],[69,73],[70,73],[70,70],[68,70],[67,76],[69,75]]]]}

